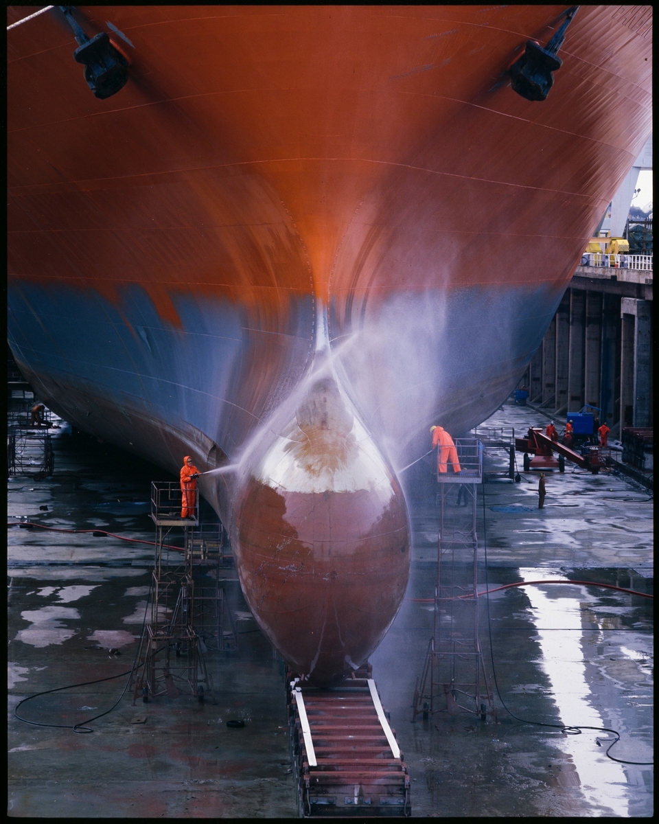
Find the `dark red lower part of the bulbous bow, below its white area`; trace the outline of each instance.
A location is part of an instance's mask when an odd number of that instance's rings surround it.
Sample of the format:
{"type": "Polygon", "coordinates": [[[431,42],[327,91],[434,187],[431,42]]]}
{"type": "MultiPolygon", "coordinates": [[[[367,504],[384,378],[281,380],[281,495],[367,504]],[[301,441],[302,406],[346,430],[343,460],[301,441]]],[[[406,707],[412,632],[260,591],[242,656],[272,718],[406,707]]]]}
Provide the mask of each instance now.
{"type": "Polygon", "coordinates": [[[237,505],[233,545],[250,607],[294,671],[311,681],[358,669],[403,600],[407,513],[402,495],[390,490],[387,498],[383,506],[365,489],[282,494],[251,480],[237,505]]]}

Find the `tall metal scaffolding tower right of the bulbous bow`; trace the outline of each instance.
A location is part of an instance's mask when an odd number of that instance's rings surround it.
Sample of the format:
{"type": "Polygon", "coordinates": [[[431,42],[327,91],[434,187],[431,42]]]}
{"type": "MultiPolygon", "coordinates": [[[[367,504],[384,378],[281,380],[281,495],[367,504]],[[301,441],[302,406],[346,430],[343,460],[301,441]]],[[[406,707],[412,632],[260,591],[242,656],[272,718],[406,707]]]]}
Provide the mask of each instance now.
{"type": "Polygon", "coordinates": [[[414,689],[413,721],[419,713],[428,718],[465,711],[484,720],[493,712],[479,640],[476,503],[483,483],[483,444],[478,438],[456,438],[455,443],[460,472],[437,471],[433,630],[414,689]]]}

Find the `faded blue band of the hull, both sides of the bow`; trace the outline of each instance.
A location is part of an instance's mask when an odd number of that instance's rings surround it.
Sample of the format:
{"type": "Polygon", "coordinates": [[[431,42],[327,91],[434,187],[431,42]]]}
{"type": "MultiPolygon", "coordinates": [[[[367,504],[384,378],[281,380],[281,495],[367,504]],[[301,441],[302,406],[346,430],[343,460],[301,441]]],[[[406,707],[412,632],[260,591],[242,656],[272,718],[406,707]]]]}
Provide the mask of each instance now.
{"type": "MultiPolygon", "coordinates": [[[[336,368],[392,465],[425,451],[430,424],[462,433],[496,409],[559,299],[555,288],[479,287],[400,293],[360,316],[332,307],[336,368]]],[[[117,307],[93,291],[22,283],[9,293],[9,341],[40,396],[79,428],[170,471],[187,452],[222,466],[306,374],[315,307],[292,301],[278,330],[253,328],[228,301],[180,296],[175,309],[180,329],[140,288],[117,307]]]]}

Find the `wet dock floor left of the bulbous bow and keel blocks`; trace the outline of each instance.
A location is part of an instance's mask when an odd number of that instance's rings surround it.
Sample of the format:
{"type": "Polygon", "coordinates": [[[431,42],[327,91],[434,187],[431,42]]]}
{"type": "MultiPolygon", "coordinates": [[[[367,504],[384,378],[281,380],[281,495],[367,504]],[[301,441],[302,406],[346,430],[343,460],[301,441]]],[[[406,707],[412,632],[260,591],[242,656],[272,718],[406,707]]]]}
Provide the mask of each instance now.
{"type": "MultiPolygon", "coordinates": [[[[9,480],[10,520],[28,516],[51,527],[101,527],[153,541],[144,501],[152,480],[174,479],[93,438],[72,438],[67,427],[60,431],[53,477],[9,480]]],[[[138,698],[133,706],[128,691],[111,714],[90,724],[94,733],[77,735],[21,723],[13,709],[26,695],[130,670],[153,547],[20,527],[9,529],[8,541],[11,817],[295,815],[283,673],[248,620],[235,569],[221,569],[219,577],[242,619],[239,651],[206,655],[217,705],[181,695],[147,705],[138,698]],[[247,723],[230,729],[229,719],[247,723]]],[[[125,682],[119,677],[43,695],[19,712],[44,723],[80,723],[110,709],[125,682]]]]}

